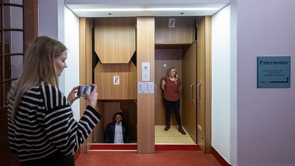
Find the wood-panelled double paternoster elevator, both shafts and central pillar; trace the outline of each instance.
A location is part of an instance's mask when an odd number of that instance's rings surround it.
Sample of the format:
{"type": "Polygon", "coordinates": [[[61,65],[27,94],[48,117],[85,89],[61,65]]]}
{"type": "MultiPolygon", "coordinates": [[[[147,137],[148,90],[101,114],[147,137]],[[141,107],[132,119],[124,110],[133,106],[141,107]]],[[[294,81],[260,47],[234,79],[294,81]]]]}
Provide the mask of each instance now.
{"type": "MultiPolygon", "coordinates": [[[[80,84],[97,85],[97,109],[102,115],[81,153],[92,143],[104,143],[104,130],[119,111],[129,124],[137,153],[155,153],[155,125],[165,124],[161,80],[171,67],[177,68],[182,80],[183,127],[210,153],[210,114],[205,112],[210,102],[205,95],[210,90],[210,79],[205,77],[210,75],[205,65],[210,60],[209,23],[210,16],[79,18],[80,84]],[[137,93],[141,64],[146,62],[154,94],[137,93]]],[[[81,111],[86,105],[80,100],[81,111]]],[[[177,125],[172,115],[171,124],[177,125]]]]}

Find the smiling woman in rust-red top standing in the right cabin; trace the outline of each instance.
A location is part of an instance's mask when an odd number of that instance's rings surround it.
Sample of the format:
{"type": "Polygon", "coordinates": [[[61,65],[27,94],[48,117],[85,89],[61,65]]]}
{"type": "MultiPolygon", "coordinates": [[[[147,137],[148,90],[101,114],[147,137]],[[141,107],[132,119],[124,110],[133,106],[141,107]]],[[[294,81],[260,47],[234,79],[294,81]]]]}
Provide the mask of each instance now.
{"type": "Polygon", "coordinates": [[[162,90],[164,91],[164,104],[166,107],[166,127],[165,127],[164,131],[168,131],[170,129],[171,110],[172,110],[172,108],[174,108],[176,121],[178,123],[178,131],[181,134],[185,135],[186,133],[183,131],[183,129],[181,127],[181,117],[180,117],[180,113],[179,113],[180,86],[181,86],[181,80],[180,80],[180,78],[178,78],[176,68],[173,67],[170,69],[168,76],[164,77],[162,80],[162,90]]]}

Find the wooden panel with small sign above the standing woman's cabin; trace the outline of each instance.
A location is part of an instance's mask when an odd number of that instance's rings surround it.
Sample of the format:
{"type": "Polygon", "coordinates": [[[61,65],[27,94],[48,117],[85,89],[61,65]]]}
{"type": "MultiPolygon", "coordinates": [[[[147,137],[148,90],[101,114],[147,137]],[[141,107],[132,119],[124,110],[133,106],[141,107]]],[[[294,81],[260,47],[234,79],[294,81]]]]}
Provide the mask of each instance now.
{"type": "Polygon", "coordinates": [[[195,42],[195,17],[155,17],[155,44],[192,44],[195,42]],[[169,28],[175,18],[175,28],[169,28]]]}

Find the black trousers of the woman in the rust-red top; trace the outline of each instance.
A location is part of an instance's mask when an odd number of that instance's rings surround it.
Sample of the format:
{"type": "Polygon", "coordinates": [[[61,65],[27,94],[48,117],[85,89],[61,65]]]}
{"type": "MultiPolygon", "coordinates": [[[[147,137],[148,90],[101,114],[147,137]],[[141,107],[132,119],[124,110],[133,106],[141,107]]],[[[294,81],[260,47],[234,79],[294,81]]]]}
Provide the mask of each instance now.
{"type": "Polygon", "coordinates": [[[180,118],[180,113],[179,113],[179,108],[180,108],[180,99],[176,101],[169,101],[164,98],[164,104],[166,107],[166,122],[170,122],[171,118],[171,110],[174,108],[174,113],[176,117],[176,121],[178,125],[181,125],[181,118],[180,118]]]}

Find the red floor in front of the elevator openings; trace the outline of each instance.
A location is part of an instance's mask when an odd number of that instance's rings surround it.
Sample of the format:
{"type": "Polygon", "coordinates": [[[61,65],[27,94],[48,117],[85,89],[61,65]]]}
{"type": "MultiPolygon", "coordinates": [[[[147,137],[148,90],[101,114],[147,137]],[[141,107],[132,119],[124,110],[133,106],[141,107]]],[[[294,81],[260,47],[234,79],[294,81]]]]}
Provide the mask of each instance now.
{"type": "Polygon", "coordinates": [[[155,154],[137,152],[88,152],[80,154],[76,166],[92,165],[221,165],[212,154],[202,151],[156,151],[155,154]]]}

